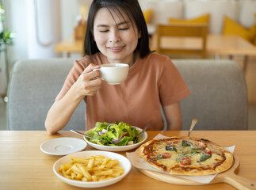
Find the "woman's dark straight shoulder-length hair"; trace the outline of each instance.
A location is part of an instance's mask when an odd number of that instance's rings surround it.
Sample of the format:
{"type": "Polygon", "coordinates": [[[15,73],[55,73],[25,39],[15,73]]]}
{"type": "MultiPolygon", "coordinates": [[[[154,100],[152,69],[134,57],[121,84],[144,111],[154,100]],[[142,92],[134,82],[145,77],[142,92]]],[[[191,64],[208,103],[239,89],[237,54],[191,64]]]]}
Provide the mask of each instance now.
{"type": "Polygon", "coordinates": [[[84,41],[84,51],[86,55],[94,55],[95,53],[100,52],[94,41],[94,17],[97,11],[101,8],[109,9],[109,11],[113,10],[120,14],[120,17],[124,17],[121,13],[122,11],[128,16],[131,23],[134,21],[138,28],[138,32],[141,33],[141,37],[139,38],[136,47],[136,50],[139,51],[140,58],[144,58],[151,53],[149,49],[147,24],[138,0],[94,0],[90,6],[86,26],[86,37],[84,41]]]}

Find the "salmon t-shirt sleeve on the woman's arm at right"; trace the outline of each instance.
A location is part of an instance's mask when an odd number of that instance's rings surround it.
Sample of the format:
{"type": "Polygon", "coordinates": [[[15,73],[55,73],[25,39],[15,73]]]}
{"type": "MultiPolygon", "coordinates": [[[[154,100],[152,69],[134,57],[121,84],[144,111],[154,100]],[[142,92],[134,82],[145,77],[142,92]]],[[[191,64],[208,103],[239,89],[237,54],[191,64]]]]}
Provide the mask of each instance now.
{"type": "Polygon", "coordinates": [[[190,94],[190,90],[186,86],[180,72],[169,58],[166,58],[166,61],[162,63],[159,93],[163,106],[177,103],[190,94]]]}

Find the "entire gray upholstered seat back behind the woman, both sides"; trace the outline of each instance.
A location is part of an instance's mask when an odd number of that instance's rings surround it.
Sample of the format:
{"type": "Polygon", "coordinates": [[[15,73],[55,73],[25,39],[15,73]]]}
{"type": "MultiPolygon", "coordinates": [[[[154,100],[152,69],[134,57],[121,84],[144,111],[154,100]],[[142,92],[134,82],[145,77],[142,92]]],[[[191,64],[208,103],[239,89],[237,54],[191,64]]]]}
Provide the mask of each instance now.
{"type": "MultiPolygon", "coordinates": [[[[23,60],[14,64],[7,104],[10,130],[45,130],[48,109],[73,66],[73,59],[23,60]]],[[[173,60],[191,95],[181,101],[183,130],[246,130],[247,90],[243,70],[231,60],[173,60]]],[[[63,130],[85,130],[84,101],[63,130]]]]}

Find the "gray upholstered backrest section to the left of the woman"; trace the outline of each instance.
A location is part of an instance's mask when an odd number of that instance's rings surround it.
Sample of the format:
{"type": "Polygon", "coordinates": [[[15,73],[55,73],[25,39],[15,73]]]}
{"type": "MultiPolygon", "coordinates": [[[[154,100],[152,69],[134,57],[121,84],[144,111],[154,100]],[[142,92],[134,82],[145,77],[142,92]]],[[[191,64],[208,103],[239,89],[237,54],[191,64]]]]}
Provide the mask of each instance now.
{"type": "MultiPolygon", "coordinates": [[[[14,64],[7,104],[10,130],[45,130],[48,109],[63,86],[73,59],[24,60],[14,64]]],[[[85,130],[85,103],[82,101],[63,130],[85,130]]]]}

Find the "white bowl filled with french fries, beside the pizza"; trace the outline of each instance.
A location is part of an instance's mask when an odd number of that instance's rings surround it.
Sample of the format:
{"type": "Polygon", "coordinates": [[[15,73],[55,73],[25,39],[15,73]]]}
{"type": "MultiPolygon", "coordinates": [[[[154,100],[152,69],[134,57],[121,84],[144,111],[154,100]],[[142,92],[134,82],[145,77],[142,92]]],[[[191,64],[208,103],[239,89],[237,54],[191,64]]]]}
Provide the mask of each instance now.
{"type": "Polygon", "coordinates": [[[59,158],[53,165],[57,177],[80,188],[101,188],[122,180],[131,170],[128,158],[106,151],[89,150],[59,158]]]}

